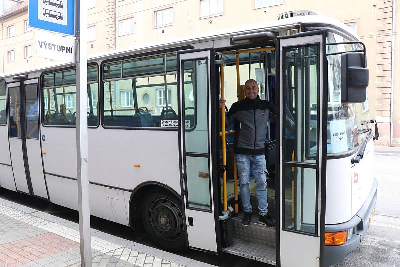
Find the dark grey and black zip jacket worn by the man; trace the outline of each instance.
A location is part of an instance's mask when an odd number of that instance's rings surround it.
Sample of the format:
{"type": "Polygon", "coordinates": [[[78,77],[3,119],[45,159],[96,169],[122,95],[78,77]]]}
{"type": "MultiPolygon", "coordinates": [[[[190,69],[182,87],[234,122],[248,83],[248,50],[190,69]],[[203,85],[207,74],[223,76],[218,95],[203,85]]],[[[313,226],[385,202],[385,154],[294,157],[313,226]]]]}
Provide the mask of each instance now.
{"type": "Polygon", "coordinates": [[[234,123],[234,153],[263,155],[268,121],[275,106],[259,96],[244,98],[232,104],[227,114],[227,125],[234,123]]]}

